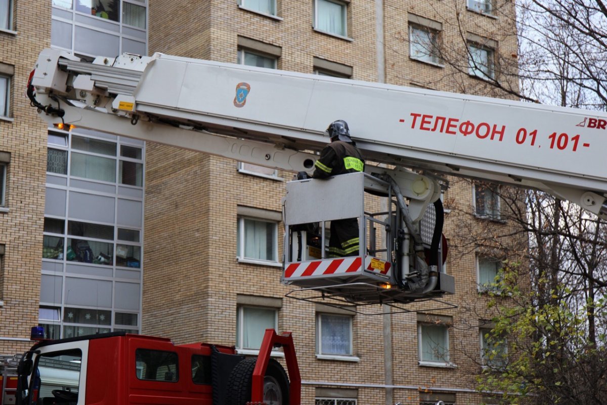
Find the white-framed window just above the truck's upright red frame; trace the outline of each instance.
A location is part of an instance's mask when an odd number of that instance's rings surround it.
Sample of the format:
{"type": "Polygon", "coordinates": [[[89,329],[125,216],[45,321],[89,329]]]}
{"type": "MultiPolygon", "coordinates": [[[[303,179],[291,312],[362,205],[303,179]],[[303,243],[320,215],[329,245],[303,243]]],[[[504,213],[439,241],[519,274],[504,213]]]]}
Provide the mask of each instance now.
{"type": "Polygon", "coordinates": [[[236,315],[236,347],[257,350],[262,345],[265,330],[277,328],[277,309],[242,305],[236,315]]]}

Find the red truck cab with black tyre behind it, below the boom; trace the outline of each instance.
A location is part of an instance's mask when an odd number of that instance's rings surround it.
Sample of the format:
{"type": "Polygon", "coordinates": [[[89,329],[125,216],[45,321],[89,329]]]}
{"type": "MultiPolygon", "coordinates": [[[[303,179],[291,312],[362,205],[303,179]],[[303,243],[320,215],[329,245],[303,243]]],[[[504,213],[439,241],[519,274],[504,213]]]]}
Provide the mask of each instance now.
{"type": "Polygon", "coordinates": [[[291,335],[270,329],[257,358],[128,333],[42,341],[24,353],[18,375],[18,405],[298,405],[300,396],[291,335]],[[284,347],[291,383],[270,359],[273,346],[284,347]]]}

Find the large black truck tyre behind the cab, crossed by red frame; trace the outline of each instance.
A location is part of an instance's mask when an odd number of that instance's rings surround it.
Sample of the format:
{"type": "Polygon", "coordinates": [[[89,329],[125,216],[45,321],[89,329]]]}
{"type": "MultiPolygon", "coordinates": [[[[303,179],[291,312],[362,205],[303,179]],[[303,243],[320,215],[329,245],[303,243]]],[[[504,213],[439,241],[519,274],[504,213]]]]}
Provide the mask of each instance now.
{"type": "MultiPolygon", "coordinates": [[[[228,398],[229,405],[246,405],[251,401],[251,383],[257,358],[246,358],[236,364],[229,375],[228,398]]],[[[266,374],[263,377],[263,402],[266,405],[288,405],[289,379],[285,369],[274,359],[268,362],[266,374]]]]}

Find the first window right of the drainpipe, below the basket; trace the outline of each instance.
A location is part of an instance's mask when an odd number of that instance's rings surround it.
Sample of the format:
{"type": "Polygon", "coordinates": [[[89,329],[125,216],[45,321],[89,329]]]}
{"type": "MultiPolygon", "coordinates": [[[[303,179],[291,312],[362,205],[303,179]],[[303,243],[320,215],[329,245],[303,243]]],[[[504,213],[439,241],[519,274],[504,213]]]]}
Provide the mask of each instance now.
{"type": "Polygon", "coordinates": [[[450,366],[450,317],[418,313],[418,351],[421,366],[450,366]]]}

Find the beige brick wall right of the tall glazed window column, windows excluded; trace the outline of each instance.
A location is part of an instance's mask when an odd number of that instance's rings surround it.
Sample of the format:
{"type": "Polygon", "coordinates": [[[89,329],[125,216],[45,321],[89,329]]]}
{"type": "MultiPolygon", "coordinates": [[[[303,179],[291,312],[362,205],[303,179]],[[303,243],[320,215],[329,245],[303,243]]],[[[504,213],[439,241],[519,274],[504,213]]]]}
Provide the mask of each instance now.
{"type": "MultiPolygon", "coordinates": [[[[510,2],[500,2],[500,13],[506,14],[498,19],[467,12],[463,4],[454,0],[384,1],[388,83],[484,91],[482,81],[458,75],[447,65],[440,68],[409,58],[407,13],[443,22],[443,40],[449,49],[459,46],[458,52],[464,51],[463,44],[453,40],[458,31],[452,25],[456,10],[463,16],[463,30],[485,36],[495,33],[492,39],[500,42],[499,52],[516,53],[515,39],[504,34],[514,28],[512,19],[507,18],[514,13],[510,2]]],[[[280,69],[311,73],[316,56],[352,66],[355,79],[376,81],[375,2],[350,3],[348,36],[352,41],[314,32],[311,5],[311,0],[282,0],[279,20],[239,9],[236,0],[205,2],[196,9],[195,18],[193,8],[184,7],[183,2],[151,2],[149,49],[234,63],[241,35],[282,47],[280,69]],[[175,29],[176,24],[180,29],[175,29]]],[[[188,6],[194,7],[194,2],[188,6]]],[[[294,333],[304,381],[324,381],[327,387],[331,383],[354,384],[359,405],[385,403],[382,316],[354,317],[353,347],[359,362],[316,359],[314,306],[283,298],[288,288],[279,283],[279,268],[236,260],[237,206],[280,211],[284,182],[239,173],[237,163],[231,160],[166,146],[148,144],[146,163],[143,333],[168,336],[177,342],[233,345],[237,294],[282,298],[279,329],[294,333]]],[[[291,174],[281,175],[291,178],[291,174]]],[[[470,187],[469,182],[453,182],[447,195],[463,206],[470,205],[470,187]]],[[[472,226],[477,225],[472,221],[472,226]]],[[[455,226],[448,214],[445,233],[450,239],[456,237],[455,226]]],[[[448,271],[455,276],[456,294],[447,301],[460,304],[471,294],[478,295],[475,253],[472,250],[452,257],[448,271]]],[[[482,298],[474,309],[483,312],[482,298]]],[[[393,315],[393,384],[399,387],[394,390],[393,403],[419,403],[418,388],[436,392],[459,389],[463,391],[456,394],[458,403],[480,403],[480,396],[466,392],[473,390],[469,378],[472,363],[457,350],[478,347],[478,328],[467,327],[478,321],[478,315],[458,310],[439,313],[453,316],[450,349],[458,367],[418,366],[416,314],[393,315]]],[[[314,387],[304,384],[303,404],[314,403],[314,387]]]]}

